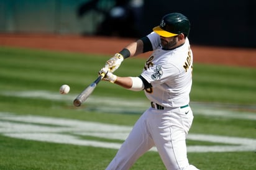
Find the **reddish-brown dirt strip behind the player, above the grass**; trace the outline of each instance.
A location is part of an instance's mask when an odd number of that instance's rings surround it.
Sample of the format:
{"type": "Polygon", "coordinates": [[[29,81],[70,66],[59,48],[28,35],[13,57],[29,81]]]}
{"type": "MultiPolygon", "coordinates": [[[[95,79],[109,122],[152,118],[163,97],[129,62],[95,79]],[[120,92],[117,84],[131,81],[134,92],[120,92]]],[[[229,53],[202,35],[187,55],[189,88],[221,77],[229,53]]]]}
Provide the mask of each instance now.
{"type": "MultiPolygon", "coordinates": [[[[113,55],[122,50],[131,38],[81,37],[75,35],[0,34],[0,46],[37,48],[113,55]]],[[[191,40],[190,42],[193,42],[191,40]]],[[[221,48],[193,45],[194,63],[256,67],[256,48],[221,48]]],[[[140,55],[148,57],[150,53],[140,55]]]]}

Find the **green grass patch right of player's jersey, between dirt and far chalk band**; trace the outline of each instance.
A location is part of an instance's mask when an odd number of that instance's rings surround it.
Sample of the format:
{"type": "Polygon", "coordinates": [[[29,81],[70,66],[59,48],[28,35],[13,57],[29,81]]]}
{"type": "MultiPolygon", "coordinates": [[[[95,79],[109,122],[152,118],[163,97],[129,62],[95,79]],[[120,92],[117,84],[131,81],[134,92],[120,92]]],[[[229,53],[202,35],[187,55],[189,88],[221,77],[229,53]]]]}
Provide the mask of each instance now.
{"type": "Polygon", "coordinates": [[[255,104],[256,69],[195,65],[193,91],[196,101],[255,104]]]}

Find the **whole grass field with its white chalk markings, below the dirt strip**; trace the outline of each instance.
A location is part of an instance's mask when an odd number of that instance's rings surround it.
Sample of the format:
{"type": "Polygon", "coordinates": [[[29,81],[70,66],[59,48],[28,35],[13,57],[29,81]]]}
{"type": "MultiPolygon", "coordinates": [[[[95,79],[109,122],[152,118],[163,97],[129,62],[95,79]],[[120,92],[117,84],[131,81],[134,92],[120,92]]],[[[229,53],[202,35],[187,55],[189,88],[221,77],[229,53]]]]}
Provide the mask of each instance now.
{"type": "MultiPolygon", "coordinates": [[[[196,57],[196,56],[195,56],[196,57]]],[[[104,169],[140,114],[143,92],[99,83],[73,99],[109,56],[0,47],[0,169],[104,169]],[[59,94],[62,84],[70,93],[59,94]]],[[[145,59],[116,71],[137,76],[145,59]]],[[[199,169],[256,169],[256,69],[194,63],[188,158],[199,169]]],[[[153,149],[132,169],[165,169],[153,149]]]]}

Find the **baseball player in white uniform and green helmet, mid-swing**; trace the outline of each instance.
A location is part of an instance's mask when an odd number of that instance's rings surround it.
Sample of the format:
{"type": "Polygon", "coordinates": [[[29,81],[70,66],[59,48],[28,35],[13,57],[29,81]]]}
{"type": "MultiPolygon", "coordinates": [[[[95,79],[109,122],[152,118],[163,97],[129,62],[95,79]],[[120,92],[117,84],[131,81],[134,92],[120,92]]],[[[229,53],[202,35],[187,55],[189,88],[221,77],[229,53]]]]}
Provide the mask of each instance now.
{"type": "Polygon", "coordinates": [[[132,42],[106,61],[99,71],[104,80],[132,91],[145,91],[150,107],[135,123],[106,169],[129,169],[146,151],[156,146],[167,169],[197,169],[186,155],[186,135],[193,122],[190,108],[193,53],[188,34],[190,21],[180,13],[163,16],[153,32],[132,42]],[[124,58],[153,51],[138,77],[119,77],[113,72],[124,58]]]}

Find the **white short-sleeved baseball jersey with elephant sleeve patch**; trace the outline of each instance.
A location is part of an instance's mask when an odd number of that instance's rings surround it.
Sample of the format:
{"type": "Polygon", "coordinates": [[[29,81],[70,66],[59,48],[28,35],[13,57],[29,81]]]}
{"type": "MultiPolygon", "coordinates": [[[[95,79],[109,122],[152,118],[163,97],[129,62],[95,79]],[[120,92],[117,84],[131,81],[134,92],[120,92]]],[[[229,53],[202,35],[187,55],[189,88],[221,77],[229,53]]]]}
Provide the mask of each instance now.
{"type": "Polygon", "coordinates": [[[190,42],[174,50],[163,50],[160,36],[147,35],[154,52],[145,63],[141,76],[152,88],[145,90],[147,98],[163,107],[181,107],[190,102],[192,86],[193,53],[190,42]]]}

